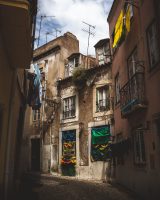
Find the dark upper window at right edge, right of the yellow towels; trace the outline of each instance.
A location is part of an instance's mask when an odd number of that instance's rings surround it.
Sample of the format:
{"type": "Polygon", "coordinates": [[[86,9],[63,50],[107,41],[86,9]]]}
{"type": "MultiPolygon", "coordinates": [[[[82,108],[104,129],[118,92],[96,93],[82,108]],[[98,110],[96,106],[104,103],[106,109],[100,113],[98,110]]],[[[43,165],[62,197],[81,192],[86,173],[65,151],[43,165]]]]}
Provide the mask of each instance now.
{"type": "Polygon", "coordinates": [[[154,21],[147,30],[148,54],[150,61],[150,69],[154,68],[160,59],[160,51],[158,46],[158,30],[154,21]]]}

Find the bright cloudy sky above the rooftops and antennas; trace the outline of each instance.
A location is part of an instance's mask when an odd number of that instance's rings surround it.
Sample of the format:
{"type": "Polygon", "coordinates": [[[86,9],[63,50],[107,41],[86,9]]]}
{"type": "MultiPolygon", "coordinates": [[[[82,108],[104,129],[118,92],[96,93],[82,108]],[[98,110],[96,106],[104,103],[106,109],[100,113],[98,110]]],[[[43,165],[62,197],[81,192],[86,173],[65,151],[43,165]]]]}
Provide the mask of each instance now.
{"type": "MultiPolygon", "coordinates": [[[[109,37],[107,15],[113,0],[39,0],[36,38],[39,36],[40,16],[43,18],[41,23],[41,33],[39,46],[43,45],[57,36],[69,31],[76,35],[79,40],[80,53],[87,54],[88,31],[91,24],[91,31],[94,36],[90,36],[89,55],[95,55],[94,45],[101,39],[109,37]],[[48,32],[48,34],[46,34],[48,32]],[[47,40],[46,40],[47,36],[47,40]]],[[[35,47],[37,47],[36,40],[35,47]]]]}

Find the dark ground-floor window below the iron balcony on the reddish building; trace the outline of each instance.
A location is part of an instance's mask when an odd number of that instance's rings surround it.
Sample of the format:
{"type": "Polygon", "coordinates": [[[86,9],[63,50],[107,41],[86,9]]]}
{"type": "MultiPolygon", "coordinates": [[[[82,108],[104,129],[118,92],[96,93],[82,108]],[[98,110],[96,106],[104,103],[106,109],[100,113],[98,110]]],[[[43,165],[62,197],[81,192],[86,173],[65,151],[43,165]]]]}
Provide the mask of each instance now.
{"type": "Polygon", "coordinates": [[[145,144],[142,130],[136,130],[133,135],[133,147],[134,147],[134,163],[145,164],[145,144]]]}

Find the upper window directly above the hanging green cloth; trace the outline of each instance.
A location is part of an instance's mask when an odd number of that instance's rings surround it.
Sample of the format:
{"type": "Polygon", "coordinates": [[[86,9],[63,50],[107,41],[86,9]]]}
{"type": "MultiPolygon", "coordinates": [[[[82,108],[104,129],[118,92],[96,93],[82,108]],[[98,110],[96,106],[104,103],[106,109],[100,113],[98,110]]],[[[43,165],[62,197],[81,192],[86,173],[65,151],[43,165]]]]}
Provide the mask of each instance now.
{"type": "Polygon", "coordinates": [[[96,95],[97,95],[96,99],[97,112],[110,110],[109,87],[103,86],[97,88],[96,95]]]}

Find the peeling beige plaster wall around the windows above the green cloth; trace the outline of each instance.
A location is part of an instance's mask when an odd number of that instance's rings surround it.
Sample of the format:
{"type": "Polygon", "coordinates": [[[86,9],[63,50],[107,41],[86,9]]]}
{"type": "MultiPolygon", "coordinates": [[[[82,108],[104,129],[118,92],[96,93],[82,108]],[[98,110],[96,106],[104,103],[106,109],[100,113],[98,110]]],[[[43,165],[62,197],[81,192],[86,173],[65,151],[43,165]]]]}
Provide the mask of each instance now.
{"type": "MultiPolygon", "coordinates": [[[[96,73],[99,73],[102,68],[97,68],[96,73]]],[[[102,70],[101,76],[99,75],[94,84],[89,87],[84,87],[82,90],[77,90],[72,85],[71,80],[65,80],[62,84],[60,93],[62,99],[65,97],[77,94],[78,101],[76,105],[77,114],[75,118],[62,120],[59,128],[59,173],[61,173],[61,157],[62,157],[62,131],[76,130],[76,177],[78,179],[91,179],[91,180],[104,180],[107,181],[107,168],[108,162],[91,161],[91,128],[96,126],[108,125],[110,123],[110,114],[108,113],[96,113],[96,90],[95,86],[101,84],[111,85],[111,68],[102,70]],[[97,117],[98,116],[98,117],[97,117]],[[80,136],[80,123],[83,123],[83,132],[80,136]],[[82,158],[81,154],[84,154],[86,158],[82,158]]],[[[111,93],[110,88],[110,93],[111,93]]],[[[62,109],[61,109],[62,113],[62,109]]],[[[111,131],[112,131],[111,126],[111,131]]]]}

